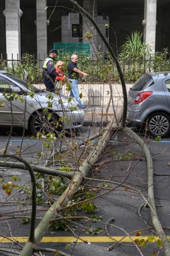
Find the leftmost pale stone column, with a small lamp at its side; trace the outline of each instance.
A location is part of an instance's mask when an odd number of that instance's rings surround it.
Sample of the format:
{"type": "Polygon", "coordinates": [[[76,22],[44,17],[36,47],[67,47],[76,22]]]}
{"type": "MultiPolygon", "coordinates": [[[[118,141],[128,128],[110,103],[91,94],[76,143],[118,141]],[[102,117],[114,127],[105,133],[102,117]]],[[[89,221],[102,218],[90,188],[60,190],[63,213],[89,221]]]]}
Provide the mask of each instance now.
{"type": "Polygon", "coordinates": [[[17,54],[21,56],[20,46],[20,0],[5,0],[5,25],[6,25],[6,47],[8,60],[17,60],[17,54]]]}

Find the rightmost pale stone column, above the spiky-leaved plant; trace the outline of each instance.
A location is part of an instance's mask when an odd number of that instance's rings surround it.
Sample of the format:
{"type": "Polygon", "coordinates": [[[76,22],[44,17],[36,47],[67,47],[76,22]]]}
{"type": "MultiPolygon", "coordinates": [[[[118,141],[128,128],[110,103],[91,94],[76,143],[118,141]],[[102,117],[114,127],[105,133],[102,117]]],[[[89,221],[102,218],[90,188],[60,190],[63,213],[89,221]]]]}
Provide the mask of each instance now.
{"type": "Polygon", "coordinates": [[[157,0],[144,1],[144,37],[143,41],[151,45],[151,49],[155,51],[155,37],[157,25],[157,0]]]}

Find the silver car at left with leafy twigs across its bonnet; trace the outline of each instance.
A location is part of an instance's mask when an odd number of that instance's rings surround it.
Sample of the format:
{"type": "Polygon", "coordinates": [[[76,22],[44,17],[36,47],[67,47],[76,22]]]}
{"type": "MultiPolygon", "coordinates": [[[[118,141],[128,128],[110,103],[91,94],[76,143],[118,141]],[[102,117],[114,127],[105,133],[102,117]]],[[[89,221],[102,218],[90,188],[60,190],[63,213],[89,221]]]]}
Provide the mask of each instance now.
{"type": "Polygon", "coordinates": [[[84,111],[77,101],[0,71],[0,125],[25,127],[36,134],[78,128],[83,121],[84,111]]]}

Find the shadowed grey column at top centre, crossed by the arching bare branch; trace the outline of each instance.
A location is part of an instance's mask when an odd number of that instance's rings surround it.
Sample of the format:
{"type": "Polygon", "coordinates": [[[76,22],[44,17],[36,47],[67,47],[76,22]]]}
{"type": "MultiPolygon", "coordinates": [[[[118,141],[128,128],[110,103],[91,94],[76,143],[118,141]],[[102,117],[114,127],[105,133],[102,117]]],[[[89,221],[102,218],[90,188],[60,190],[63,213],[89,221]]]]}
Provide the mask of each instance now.
{"type": "MultiPolygon", "coordinates": [[[[83,0],[82,7],[97,21],[97,0],[83,0]]],[[[83,29],[83,42],[90,43],[90,53],[94,55],[96,48],[97,48],[97,31],[94,29],[94,26],[90,22],[90,20],[84,15],[83,22],[82,22],[82,29],[83,29]],[[91,33],[90,28],[93,28],[93,38],[88,39],[85,38],[86,32],[91,33]]],[[[95,55],[94,55],[95,56],[95,55]]]]}

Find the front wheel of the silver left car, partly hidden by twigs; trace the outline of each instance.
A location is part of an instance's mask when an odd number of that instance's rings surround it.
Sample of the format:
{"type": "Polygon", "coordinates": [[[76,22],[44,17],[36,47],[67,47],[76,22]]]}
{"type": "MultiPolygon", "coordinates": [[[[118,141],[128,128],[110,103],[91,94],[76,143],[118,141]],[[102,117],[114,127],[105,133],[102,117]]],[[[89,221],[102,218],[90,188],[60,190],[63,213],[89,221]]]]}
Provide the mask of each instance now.
{"type": "Polygon", "coordinates": [[[58,116],[51,113],[51,117],[48,114],[43,113],[43,111],[36,112],[32,116],[30,121],[30,130],[37,134],[40,133],[53,133],[61,130],[61,123],[58,122],[58,116]]]}

